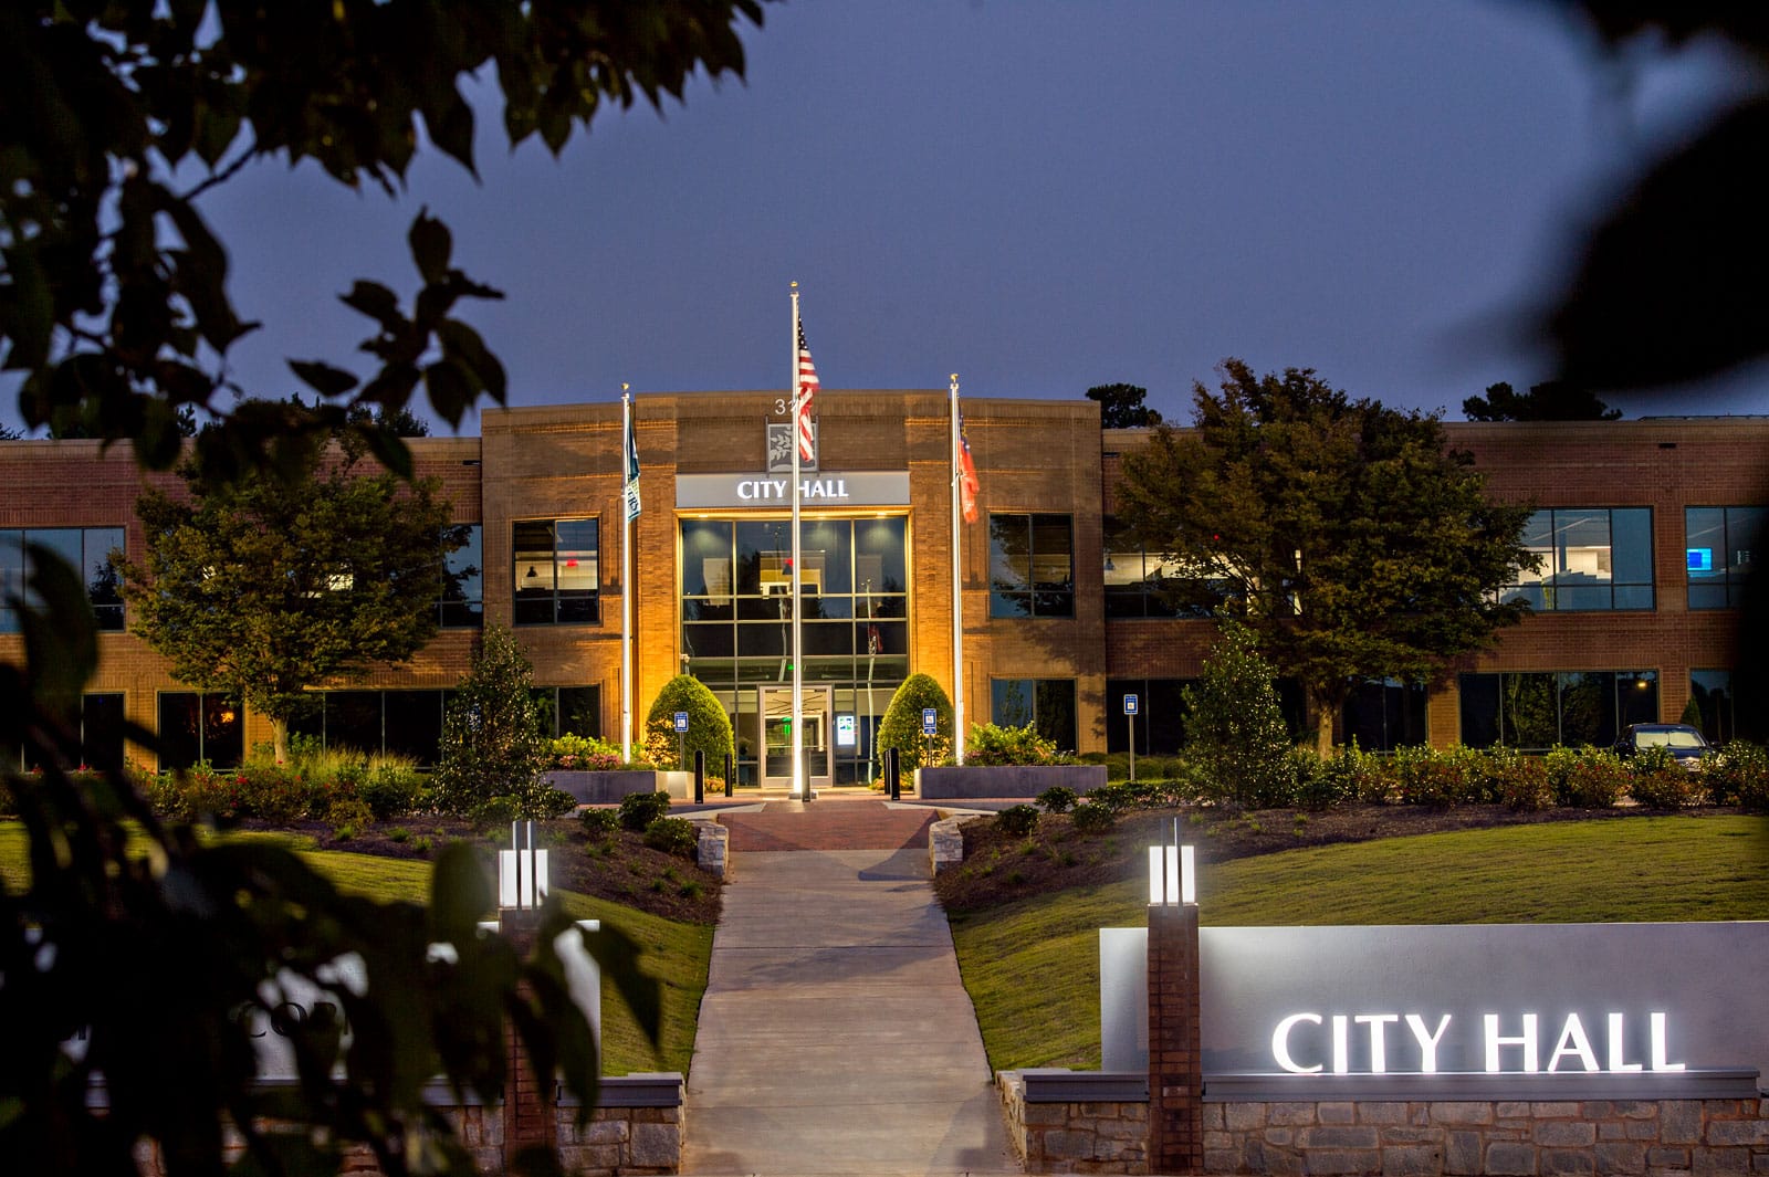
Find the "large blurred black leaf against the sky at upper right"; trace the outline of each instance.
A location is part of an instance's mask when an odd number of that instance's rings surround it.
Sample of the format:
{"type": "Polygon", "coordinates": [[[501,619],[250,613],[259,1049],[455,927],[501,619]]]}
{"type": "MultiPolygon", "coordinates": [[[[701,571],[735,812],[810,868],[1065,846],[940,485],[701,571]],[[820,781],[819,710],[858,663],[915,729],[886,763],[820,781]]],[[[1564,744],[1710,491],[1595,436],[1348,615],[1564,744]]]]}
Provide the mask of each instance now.
{"type": "Polygon", "coordinates": [[[1757,99],[1659,161],[1596,228],[1548,315],[1560,380],[1681,383],[1769,350],[1769,219],[1757,178],[1765,147],[1769,99],[1757,99]]]}

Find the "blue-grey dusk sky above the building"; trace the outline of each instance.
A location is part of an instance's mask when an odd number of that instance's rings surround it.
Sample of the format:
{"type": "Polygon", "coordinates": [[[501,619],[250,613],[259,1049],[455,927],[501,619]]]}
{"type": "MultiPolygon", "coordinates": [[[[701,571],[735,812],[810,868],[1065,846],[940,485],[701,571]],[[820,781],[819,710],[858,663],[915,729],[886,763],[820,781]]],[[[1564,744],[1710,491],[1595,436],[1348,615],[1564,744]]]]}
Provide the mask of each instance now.
{"type": "MultiPolygon", "coordinates": [[[[366,371],[336,293],[409,299],[428,205],[508,293],[465,318],[515,405],[785,387],[796,279],[824,389],[1129,382],[1183,421],[1237,355],[1459,419],[1548,375],[1525,309],[1576,226],[1742,78],[1704,49],[1606,69],[1520,0],[798,0],[745,30],[745,83],[605,115],[559,161],[481,104],[478,184],[430,152],[398,200],[280,161],[223,186],[235,302],[269,323],[237,380],[366,371]]],[[[1608,399],[1769,412],[1769,378],[1608,399]]]]}

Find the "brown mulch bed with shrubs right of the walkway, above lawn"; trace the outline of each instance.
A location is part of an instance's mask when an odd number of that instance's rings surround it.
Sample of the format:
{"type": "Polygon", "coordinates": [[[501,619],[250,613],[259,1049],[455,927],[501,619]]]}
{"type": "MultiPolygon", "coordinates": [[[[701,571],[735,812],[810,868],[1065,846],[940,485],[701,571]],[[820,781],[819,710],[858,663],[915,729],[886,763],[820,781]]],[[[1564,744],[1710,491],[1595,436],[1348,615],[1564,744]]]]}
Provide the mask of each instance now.
{"type": "MultiPolygon", "coordinates": [[[[1695,813],[1735,813],[1696,809],[1695,813]]],[[[1525,813],[1505,806],[1344,806],[1311,813],[1306,809],[1137,809],[1125,813],[1104,832],[1081,834],[1067,815],[1045,813],[1031,838],[996,827],[994,818],[964,824],[964,862],[991,869],[950,869],[934,880],[948,912],[982,910],[1044,891],[1091,887],[1141,878],[1145,847],[1168,843],[1173,822],[1180,841],[1196,847],[1199,862],[1224,862],[1258,854],[1323,847],[1376,838],[1408,838],[1456,829],[1581,822],[1592,818],[1663,816],[1661,809],[1541,809],[1525,813]],[[1031,847],[1028,850],[1028,847],[1031,847]]]]}

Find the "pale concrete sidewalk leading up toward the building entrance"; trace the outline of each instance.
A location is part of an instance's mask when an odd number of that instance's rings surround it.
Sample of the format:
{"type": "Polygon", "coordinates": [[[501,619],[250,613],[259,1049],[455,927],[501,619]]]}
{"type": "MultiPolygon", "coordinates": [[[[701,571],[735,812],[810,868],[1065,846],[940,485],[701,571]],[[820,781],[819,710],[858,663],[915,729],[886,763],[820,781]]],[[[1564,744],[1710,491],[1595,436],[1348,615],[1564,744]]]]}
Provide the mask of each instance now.
{"type": "Polygon", "coordinates": [[[683,1173],[1017,1173],[927,850],[734,855],[683,1173]]]}

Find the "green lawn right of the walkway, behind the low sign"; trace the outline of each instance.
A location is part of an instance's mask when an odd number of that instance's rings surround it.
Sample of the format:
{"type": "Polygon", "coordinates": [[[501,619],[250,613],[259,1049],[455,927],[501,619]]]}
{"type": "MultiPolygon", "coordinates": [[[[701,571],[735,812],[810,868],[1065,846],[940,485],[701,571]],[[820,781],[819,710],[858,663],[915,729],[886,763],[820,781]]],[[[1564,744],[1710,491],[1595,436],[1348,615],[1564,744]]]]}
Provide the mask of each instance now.
{"type": "MultiPolygon", "coordinates": [[[[1203,864],[1206,924],[1477,924],[1769,919],[1769,818],[1560,822],[1203,864]]],[[[1099,1067],[1099,930],[1141,928],[1148,884],[955,912],[989,1066],[1099,1067]]]]}

